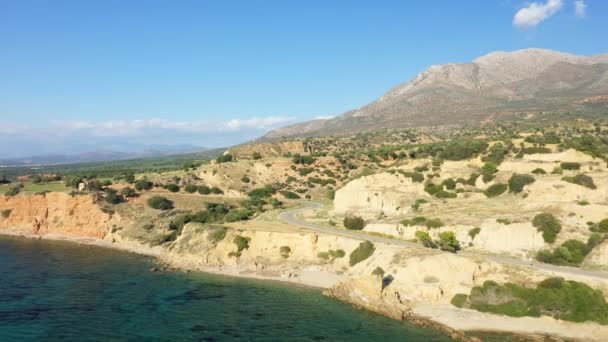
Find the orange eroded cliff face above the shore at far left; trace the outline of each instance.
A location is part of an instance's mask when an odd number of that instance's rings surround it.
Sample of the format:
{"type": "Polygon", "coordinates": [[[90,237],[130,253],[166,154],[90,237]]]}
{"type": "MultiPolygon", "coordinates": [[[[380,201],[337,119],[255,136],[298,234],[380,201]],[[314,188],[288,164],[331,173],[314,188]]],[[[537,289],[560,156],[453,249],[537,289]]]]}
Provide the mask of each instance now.
{"type": "Polygon", "coordinates": [[[16,229],[34,234],[61,234],[103,238],[113,225],[120,224],[117,214],[109,214],[95,203],[92,195],[71,196],[51,192],[31,196],[0,196],[0,229],[16,229]]]}

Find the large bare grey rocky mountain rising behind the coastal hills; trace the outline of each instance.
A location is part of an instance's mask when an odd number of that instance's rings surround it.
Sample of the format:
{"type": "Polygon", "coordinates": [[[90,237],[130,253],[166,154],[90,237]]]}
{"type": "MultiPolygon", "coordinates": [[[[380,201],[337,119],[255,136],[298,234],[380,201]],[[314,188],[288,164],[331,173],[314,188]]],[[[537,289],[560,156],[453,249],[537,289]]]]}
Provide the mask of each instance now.
{"type": "Polygon", "coordinates": [[[471,63],[433,65],[366,106],[262,139],[479,123],[512,113],[582,111],[598,100],[608,109],[608,54],[493,52],[471,63]]]}

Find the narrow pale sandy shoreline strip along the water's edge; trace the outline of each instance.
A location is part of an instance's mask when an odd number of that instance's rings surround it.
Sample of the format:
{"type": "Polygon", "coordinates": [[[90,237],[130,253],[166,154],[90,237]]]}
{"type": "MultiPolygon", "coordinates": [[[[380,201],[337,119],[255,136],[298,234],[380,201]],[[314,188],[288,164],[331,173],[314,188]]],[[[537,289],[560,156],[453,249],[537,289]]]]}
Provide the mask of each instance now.
{"type": "MultiPolygon", "coordinates": [[[[608,328],[593,323],[573,323],[548,317],[540,318],[540,321],[539,318],[532,317],[514,318],[473,310],[456,310],[455,308],[441,304],[418,304],[406,312],[391,312],[390,310],[387,311],[386,308],[383,310],[371,305],[365,305],[365,300],[357,302],[352,300],[352,298],[336,295],[333,291],[333,285],[339,282],[338,279],[325,283],[315,281],[315,278],[322,277],[327,272],[317,272],[317,274],[312,274],[310,277],[301,277],[301,273],[298,273],[298,271],[294,271],[290,273],[290,276],[286,276],[282,274],[270,274],[264,271],[243,271],[233,266],[209,267],[203,266],[203,264],[193,265],[188,262],[172,260],[168,257],[170,253],[162,247],[145,247],[137,243],[110,240],[111,237],[108,237],[108,239],[97,239],[63,234],[34,234],[17,229],[0,229],[0,235],[33,240],[64,241],[139,254],[154,258],[159,264],[164,266],[162,269],[171,271],[203,272],[230,277],[278,281],[290,285],[313,288],[345,304],[369,310],[391,319],[407,321],[415,326],[435,329],[456,341],[483,341],[482,338],[476,337],[478,334],[490,336],[502,335],[529,341],[603,341],[602,336],[608,336],[608,328]],[[542,330],[539,331],[539,327],[542,327],[542,330]]],[[[162,269],[158,271],[162,271],[162,269]]],[[[306,272],[306,270],[304,271],[306,272]]],[[[340,276],[340,280],[346,278],[345,276],[340,276]]]]}

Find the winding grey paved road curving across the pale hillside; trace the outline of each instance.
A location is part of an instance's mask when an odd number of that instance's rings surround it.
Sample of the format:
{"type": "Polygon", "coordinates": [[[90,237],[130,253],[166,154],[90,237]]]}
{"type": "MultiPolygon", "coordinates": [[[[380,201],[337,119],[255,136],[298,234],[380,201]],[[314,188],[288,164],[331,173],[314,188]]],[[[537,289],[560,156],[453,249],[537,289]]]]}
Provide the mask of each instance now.
{"type": "MultiPolygon", "coordinates": [[[[301,227],[304,229],[308,229],[308,230],[312,230],[312,231],[316,231],[316,232],[320,232],[320,233],[325,233],[325,234],[330,234],[330,235],[335,235],[335,236],[343,236],[343,237],[357,239],[357,240],[369,240],[369,241],[373,241],[373,242],[384,243],[387,245],[402,246],[402,247],[407,247],[407,248],[416,248],[416,249],[425,248],[425,247],[421,246],[420,244],[417,244],[414,242],[409,242],[409,241],[404,241],[404,240],[399,240],[399,239],[390,239],[390,238],[385,238],[385,237],[375,236],[375,235],[369,235],[366,233],[352,231],[352,230],[329,228],[329,227],[319,226],[319,225],[316,225],[316,224],[313,224],[310,222],[302,221],[296,217],[297,214],[300,214],[300,213],[303,213],[303,212],[309,211],[309,210],[321,209],[323,207],[323,205],[321,203],[310,202],[310,201],[302,201],[301,203],[305,205],[304,208],[284,211],[279,214],[279,219],[281,219],[293,226],[298,226],[298,227],[301,227]]],[[[575,267],[555,266],[555,265],[550,265],[550,264],[543,264],[543,263],[538,263],[538,262],[521,260],[521,259],[517,259],[517,258],[489,255],[489,254],[484,254],[484,253],[475,253],[475,252],[469,252],[469,251],[463,251],[458,254],[464,255],[464,256],[478,257],[481,259],[491,260],[491,261],[495,261],[495,262],[503,263],[503,264],[510,264],[510,265],[517,265],[517,266],[526,267],[526,268],[532,268],[532,269],[552,273],[555,275],[570,274],[570,275],[591,277],[591,278],[595,278],[598,280],[608,280],[608,272],[604,272],[604,271],[589,271],[589,270],[584,270],[584,269],[575,268],[575,267]]]]}

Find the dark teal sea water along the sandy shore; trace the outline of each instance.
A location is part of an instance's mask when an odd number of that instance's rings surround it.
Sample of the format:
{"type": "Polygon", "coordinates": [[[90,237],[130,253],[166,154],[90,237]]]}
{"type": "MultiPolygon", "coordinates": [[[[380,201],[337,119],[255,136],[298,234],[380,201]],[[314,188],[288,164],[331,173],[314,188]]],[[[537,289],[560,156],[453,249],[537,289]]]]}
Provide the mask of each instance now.
{"type": "Polygon", "coordinates": [[[450,341],[318,290],[0,236],[0,341],[450,341]]]}

